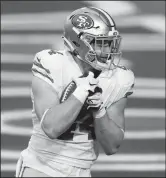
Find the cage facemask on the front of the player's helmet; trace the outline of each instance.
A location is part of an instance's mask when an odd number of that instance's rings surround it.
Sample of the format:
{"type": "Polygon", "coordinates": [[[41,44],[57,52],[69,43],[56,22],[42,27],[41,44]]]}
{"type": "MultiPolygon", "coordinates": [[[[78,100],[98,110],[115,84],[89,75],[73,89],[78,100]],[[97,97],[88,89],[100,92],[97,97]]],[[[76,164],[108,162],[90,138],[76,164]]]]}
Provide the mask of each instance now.
{"type": "Polygon", "coordinates": [[[110,70],[118,66],[122,55],[120,36],[95,36],[84,33],[80,40],[88,47],[88,51],[84,53],[84,61],[92,67],[97,70],[110,70]]]}

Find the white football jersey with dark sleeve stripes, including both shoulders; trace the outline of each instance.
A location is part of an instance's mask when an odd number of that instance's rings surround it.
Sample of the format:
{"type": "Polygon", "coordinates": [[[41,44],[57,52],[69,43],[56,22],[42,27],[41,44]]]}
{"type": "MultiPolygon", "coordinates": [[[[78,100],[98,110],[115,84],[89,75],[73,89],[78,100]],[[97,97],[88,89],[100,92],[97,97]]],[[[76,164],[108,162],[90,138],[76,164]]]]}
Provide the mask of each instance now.
{"type": "MultiPolygon", "coordinates": [[[[80,68],[69,52],[50,49],[36,54],[32,73],[49,83],[55,89],[59,98],[72,78],[82,75],[80,68]]],[[[112,96],[107,98],[107,106],[125,97],[130,92],[133,82],[133,73],[129,70],[117,68],[114,72],[103,72],[99,77],[99,86],[103,90],[103,100],[107,90],[112,92],[112,96]],[[108,81],[111,81],[111,86],[108,85],[108,81]]],[[[66,132],[57,139],[50,139],[42,130],[40,120],[35,113],[32,92],[31,98],[33,103],[33,134],[29,141],[28,150],[52,167],[55,161],[76,167],[90,168],[98,157],[91,114],[86,109],[82,110],[66,132]]]]}

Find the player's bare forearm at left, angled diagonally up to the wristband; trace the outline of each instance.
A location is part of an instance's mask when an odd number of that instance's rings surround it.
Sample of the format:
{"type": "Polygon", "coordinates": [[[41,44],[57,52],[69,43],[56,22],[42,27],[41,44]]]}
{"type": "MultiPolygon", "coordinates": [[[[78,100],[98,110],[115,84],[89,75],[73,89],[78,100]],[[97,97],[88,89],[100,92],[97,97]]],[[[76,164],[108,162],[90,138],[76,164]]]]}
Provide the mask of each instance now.
{"type": "Polygon", "coordinates": [[[51,107],[42,122],[42,128],[52,139],[64,133],[77,118],[83,104],[71,95],[68,100],[51,107]]]}

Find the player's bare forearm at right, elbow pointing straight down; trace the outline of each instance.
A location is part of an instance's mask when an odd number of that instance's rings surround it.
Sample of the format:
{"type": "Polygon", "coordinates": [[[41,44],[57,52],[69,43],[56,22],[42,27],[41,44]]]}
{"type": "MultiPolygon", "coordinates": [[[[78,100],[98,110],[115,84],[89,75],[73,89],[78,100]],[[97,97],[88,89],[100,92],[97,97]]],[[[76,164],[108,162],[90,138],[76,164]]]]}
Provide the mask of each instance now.
{"type": "Polygon", "coordinates": [[[124,139],[124,132],[108,117],[107,113],[94,119],[95,134],[105,153],[111,155],[117,152],[124,139]]]}

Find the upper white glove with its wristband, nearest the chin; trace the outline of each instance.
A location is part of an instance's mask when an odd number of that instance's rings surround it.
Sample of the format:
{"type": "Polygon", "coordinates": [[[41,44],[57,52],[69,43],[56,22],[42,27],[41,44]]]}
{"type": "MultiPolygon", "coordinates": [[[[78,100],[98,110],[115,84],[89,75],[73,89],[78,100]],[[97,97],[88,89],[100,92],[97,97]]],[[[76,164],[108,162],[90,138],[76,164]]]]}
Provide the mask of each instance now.
{"type": "Polygon", "coordinates": [[[89,72],[87,77],[73,78],[77,88],[73,95],[81,102],[84,103],[89,91],[94,92],[98,84],[98,79],[94,78],[94,73],[89,72]]]}

